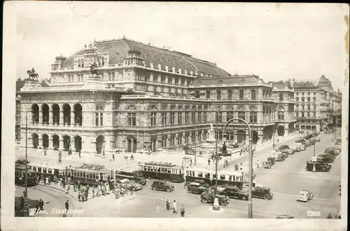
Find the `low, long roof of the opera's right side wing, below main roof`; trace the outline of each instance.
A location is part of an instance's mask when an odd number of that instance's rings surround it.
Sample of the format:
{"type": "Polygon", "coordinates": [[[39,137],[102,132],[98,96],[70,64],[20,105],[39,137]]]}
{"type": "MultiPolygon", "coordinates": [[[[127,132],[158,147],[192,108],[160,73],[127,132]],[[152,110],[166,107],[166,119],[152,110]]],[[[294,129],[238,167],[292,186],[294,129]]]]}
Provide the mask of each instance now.
{"type": "Polygon", "coordinates": [[[215,84],[258,84],[264,83],[257,75],[229,75],[226,77],[196,78],[192,82],[195,85],[215,85],[215,84]]]}

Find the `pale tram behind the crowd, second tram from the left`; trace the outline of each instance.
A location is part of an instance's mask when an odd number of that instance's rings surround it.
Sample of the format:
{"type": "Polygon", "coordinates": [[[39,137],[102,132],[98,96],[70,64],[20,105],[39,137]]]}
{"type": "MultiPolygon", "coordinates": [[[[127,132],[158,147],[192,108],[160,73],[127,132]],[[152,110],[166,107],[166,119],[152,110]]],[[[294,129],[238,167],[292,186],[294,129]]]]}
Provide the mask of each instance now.
{"type": "Polygon", "coordinates": [[[36,172],[36,176],[41,179],[43,177],[48,177],[50,182],[59,181],[59,179],[66,176],[66,166],[62,164],[54,163],[29,163],[28,166],[31,170],[36,172]]]}

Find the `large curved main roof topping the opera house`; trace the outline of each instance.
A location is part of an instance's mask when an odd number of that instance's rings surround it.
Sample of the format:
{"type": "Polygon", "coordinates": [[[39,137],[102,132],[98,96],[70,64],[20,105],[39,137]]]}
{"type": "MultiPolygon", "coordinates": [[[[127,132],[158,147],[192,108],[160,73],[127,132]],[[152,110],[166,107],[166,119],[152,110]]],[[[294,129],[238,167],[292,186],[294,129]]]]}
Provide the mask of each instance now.
{"type": "MultiPolygon", "coordinates": [[[[212,75],[213,77],[227,76],[229,73],[221,68],[218,68],[216,64],[209,61],[197,59],[189,54],[183,52],[170,51],[160,47],[154,47],[144,43],[139,43],[134,40],[122,38],[118,40],[102,40],[96,41],[94,46],[97,47],[99,53],[109,52],[110,64],[122,64],[123,59],[127,57],[129,51],[141,52],[141,57],[144,58],[146,67],[151,66],[153,63],[154,68],[158,68],[158,64],[162,65],[162,69],[165,70],[165,66],[172,70],[176,68],[176,72],[181,68],[181,73],[187,70],[188,75],[192,70],[193,73],[197,70],[200,73],[212,75]]],[[[74,56],[84,54],[84,50],[80,50],[71,55],[66,61],[64,61],[63,67],[72,67],[74,64],[74,56]]]]}

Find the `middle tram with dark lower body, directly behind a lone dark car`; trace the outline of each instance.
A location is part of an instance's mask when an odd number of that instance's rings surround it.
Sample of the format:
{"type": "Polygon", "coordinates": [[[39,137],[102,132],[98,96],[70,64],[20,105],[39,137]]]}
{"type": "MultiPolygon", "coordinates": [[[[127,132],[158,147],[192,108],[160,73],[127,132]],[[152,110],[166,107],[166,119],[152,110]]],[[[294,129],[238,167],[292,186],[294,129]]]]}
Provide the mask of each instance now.
{"type": "Polygon", "coordinates": [[[163,179],[172,182],[183,182],[183,167],[165,162],[139,162],[142,177],[163,179]]]}

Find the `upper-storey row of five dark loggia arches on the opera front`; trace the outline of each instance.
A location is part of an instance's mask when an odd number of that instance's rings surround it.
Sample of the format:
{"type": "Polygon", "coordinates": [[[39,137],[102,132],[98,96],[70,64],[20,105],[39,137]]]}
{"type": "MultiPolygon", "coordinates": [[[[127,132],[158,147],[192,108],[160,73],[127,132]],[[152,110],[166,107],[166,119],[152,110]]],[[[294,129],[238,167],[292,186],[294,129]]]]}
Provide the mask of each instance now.
{"type": "Polygon", "coordinates": [[[32,124],[71,124],[71,114],[73,114],[73,123],[81,126],[83,122],[83,107],[80,103],[71,105],[64,103],[62,105],[63,117],[60,115],[61,107],[57,103],[54,103],[50,107],[47,103],[43,103],[41,107],[34,103],[31,105],[31,121],[32,124]],[[50,118],[50,111],[52,111],[52,118],[50,118]],[[73,112],[73,113],[72,113],[73,112]],[[42,113],[42,121],[40,121],[40,113],[42,113]],[[60,118],[62,117],[62,118],[60,118]]]}

